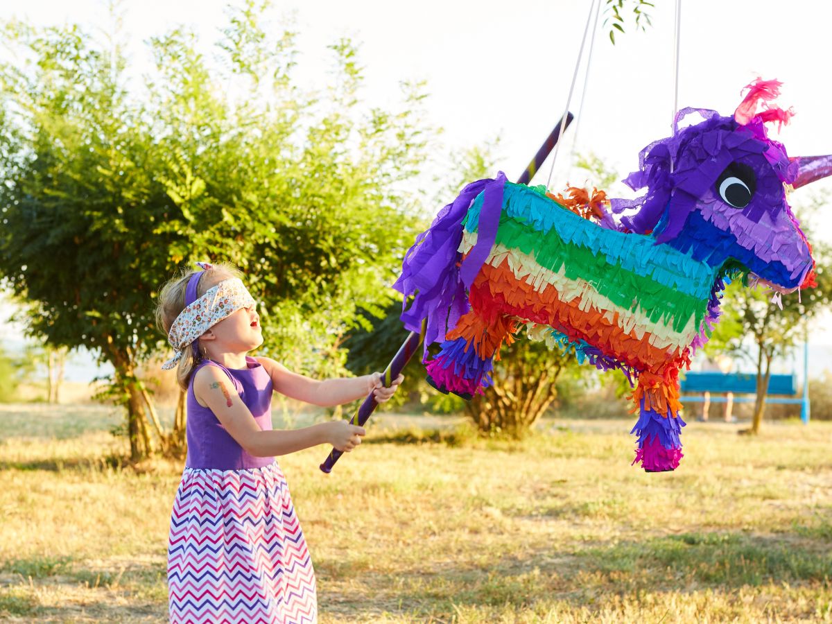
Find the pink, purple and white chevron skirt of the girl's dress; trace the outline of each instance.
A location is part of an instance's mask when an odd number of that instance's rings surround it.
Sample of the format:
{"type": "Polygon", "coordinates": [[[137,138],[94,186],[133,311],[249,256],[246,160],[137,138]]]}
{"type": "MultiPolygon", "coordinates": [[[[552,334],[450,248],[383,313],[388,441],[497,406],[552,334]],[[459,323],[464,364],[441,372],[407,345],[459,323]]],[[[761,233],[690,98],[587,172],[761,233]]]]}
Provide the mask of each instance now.
{"type": "Polygon", "coordinates": [[[317,622],[314,570],[283,471],[185,468],[167,550],[171,622],[317,622]]]}

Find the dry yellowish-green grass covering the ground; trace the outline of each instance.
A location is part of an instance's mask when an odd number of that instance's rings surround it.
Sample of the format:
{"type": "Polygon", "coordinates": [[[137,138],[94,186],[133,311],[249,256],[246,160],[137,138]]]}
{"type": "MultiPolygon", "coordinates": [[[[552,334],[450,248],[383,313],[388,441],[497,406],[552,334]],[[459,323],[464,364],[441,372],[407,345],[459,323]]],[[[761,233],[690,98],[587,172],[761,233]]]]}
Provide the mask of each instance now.
{"type": "MultiPolygon", "coordinates": [[[[119,418],[0,406],[0,620],[166,622],[181,464],[126,468],[119,418]]],[[[628,420],[436,422],[379,418],[329,476],[280,459],[321,622],[832,622],[832,423],[691,423],[646,474],[628,420]]]]}

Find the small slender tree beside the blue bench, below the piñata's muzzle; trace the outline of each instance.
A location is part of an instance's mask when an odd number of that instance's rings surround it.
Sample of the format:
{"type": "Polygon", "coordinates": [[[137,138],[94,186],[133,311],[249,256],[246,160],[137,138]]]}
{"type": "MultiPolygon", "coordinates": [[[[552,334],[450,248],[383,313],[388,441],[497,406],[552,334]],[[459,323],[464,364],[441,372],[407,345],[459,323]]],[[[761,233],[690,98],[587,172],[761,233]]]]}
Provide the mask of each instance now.
{"type": "MultiPolygon", "coordinates": [[[[815,196],[810,200],[804,217],[818,212],[825,201],[815,196]]],[[[812,240],[805,225],[801,226],[812,240]]],[[[815,267],[815,288],[803,290],[782,297],[782,309],[772,302],[772,293],[749,287],[747,278],[730,284],[722,298],[722,315],[716,325],[706,350],[711,353],[726,350],[750,359],[757,371],[757,392],[754,403],[754,417],[749,429],[740,433],[760,433],[760,423],[765,414],[765,397],[771,376],[771,363],[785,357],[795,346],[807,338],[807,327],[821,311],[828,309],[832,301],[832,271],[830,271],[830,249],[827,245],[815,243],[813,255],[815,267]],[[748,342],[753,344],[749,349],[748,342]]]]}

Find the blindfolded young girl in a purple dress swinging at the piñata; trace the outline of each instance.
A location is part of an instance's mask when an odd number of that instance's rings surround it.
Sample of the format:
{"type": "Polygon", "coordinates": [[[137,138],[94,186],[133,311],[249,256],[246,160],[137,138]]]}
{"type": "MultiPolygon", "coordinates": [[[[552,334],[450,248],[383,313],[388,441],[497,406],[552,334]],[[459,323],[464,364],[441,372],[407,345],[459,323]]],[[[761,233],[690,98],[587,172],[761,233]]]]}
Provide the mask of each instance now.
{"type": "Polygon", "coordinates": [[[230,265],[197,263],[168,282],[156,320],[187,390],[188,454],[171,515],[167,580],[171,622],[316,622],[315,580],[304,534],[275,455],[317,444],[351,451],[364,428],[346,421],[271,428],[272,391],[333,406],[373,392],[381,375],[315,381],[269,358],[255,300],[230,265]]]}

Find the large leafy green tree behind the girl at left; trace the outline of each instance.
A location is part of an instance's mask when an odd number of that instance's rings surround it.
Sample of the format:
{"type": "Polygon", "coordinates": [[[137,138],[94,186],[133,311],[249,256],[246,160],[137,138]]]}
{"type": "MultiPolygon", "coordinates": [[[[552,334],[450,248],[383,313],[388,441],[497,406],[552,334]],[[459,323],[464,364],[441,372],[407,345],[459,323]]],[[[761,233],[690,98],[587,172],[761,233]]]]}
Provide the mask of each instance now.
{"type": "Polygon", "coordinates": [[[146,93],[127,88],[117,32],[97,46],[77,26],[4,29],[22,61],[0,67],[0,275],[30,334],[113,365],[133,459],[181,447],[136,374],[166,349],[154,297],[177,269],[239,265],[264,350],[327,374],[343,370],[357,306],[389,301],[412,238],[402,187],[425,157],[422,87],[404,87],[401,110],[367,110],[343,40],[333,87],[301,92],[294,34],[265,25],[267,8],[230,9],[219,67],[182,28],[153,38],[146,93]]]}

